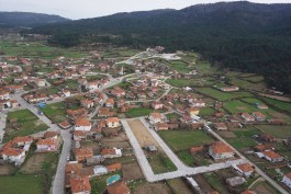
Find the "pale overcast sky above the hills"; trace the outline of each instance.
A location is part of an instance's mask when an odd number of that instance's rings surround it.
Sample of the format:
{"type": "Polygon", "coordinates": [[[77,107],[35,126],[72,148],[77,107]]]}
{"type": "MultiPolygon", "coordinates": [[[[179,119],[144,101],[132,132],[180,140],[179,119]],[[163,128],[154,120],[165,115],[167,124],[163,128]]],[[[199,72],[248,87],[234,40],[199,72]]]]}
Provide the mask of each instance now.
{"type": "MultiPolygon", "coordinates": [[[[37,12],[58,14],[68,19],[85,19],[117,12],[182,9],[208,2],[217,2],[217,0],[0,0],[0,11],[37,12]]],[[[253,2],[287,3],[291,0],[253,0],[253,2]]]]}

